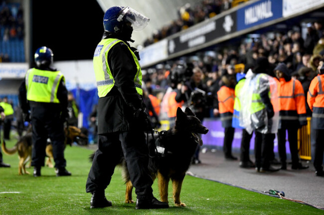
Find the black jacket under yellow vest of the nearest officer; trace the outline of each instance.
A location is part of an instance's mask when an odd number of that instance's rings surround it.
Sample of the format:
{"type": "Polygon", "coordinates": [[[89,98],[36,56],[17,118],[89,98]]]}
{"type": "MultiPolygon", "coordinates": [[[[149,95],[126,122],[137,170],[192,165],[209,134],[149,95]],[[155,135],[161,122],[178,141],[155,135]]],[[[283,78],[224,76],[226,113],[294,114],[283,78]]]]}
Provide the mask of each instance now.
{"type": "MultiPolygon", "coordinates": [[[[116,36],[105,33],[103,38],[116,38],[116,36]]],[[[129,44],[122,42],[117,43],[107,56],[115,85],[98,101],[99,135],[129,131],[134,121],[134,112],[143,107],[142,96],[137,93],[134,84],[137,67],[128,46],[129,44]]]]}

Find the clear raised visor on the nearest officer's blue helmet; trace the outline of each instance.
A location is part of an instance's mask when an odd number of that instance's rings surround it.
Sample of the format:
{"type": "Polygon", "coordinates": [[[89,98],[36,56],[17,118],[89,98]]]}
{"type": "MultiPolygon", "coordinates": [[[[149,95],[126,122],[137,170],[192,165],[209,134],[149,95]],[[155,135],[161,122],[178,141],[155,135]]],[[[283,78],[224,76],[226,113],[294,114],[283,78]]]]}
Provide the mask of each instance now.
{"type": "Polygon", "coordinates": [[[117,21],[120,22],[122,20],[131,22],[134,31],[143,30],[143,28],[145,28],[150,21],[148,17],[131,7],[125,7],[122,10],[121,14],[117,18],[117,21]]]}

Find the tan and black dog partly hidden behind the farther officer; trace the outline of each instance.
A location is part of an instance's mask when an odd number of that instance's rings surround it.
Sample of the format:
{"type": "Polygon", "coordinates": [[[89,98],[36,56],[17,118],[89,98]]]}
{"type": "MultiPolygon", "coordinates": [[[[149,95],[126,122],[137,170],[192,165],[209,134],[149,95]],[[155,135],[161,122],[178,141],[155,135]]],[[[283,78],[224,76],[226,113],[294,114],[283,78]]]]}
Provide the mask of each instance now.
{"type": "MultiPolygon", "coordinates": [[[[64,128],[64,134],[65,134],[65,141],[64,146],[67,144],[71,145],[73,141],[77,137],[80,137],[82,139],[88,139],[86,135],[81,133],[81,130],[74,127],[74,126],[68,126],[64,128]]],[[[19,165],[18,165],[18,174],[30,174],[26,171],[25,166],[28,161],[31,159],[31,151],[32,151],[32,140],[31,140],[32,133],[31,131],[27,132],[26,135],[22,136],[20,140],[14,145],[13,148],[6,148],[5,142],[2,141],[1,148],[2,151],[5,154],[14,154],[18,151],[18,157],[19,157],[19,165]]],[[[48,156],[48,159],[46,161],[46,165],[49,167],[53,167],[53,164],[51,162],[51,159],[53,159],[53,146],[51,143],[49,143],[46,146],[46,155],[48,156]]]]}

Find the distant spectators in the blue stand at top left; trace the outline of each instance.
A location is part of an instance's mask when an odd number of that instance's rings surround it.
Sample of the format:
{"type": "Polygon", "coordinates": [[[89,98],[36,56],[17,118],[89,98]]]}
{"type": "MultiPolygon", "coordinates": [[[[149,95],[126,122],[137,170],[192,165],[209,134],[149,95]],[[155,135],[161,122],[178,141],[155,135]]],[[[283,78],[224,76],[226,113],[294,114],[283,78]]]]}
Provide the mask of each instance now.
{"type": "MultiPolygon", "coordinates": [[[[0,42],[23,40],[24,21],[23,9],[21,4],[7,3],[6,0],[0,1],[0,42]]],[[[8,53],[0,52],[0,62],[9,62],[8,53]]]]}

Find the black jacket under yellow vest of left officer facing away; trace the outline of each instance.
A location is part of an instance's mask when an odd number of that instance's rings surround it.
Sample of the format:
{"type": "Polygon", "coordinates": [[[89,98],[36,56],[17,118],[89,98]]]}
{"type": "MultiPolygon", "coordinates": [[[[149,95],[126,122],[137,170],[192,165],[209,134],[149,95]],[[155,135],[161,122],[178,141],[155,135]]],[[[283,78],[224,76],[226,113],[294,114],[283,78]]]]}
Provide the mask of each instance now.
{"type": "MultiPolygon", "coordinates": [[[[56,69],[46,68],[46,71],[57,71],[56,69]]],[[[27,91],[26,91],[26,83],[25,79],[21,82],[19,89],[18,89],[18,99],[19,104],[22,109],[23,113],[28,113],[30,107],[41,106],[44,107],[49,112],[62,112],[64,116],[67,115],[67,89],[65,87],[63,79],[61,79],[58,88],[57,88],[57,99],[60,101],[59,104],[57,103],[45,103],[45,102],[34,102],[34,101],[27,101],[27,91]]]]}

